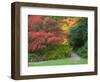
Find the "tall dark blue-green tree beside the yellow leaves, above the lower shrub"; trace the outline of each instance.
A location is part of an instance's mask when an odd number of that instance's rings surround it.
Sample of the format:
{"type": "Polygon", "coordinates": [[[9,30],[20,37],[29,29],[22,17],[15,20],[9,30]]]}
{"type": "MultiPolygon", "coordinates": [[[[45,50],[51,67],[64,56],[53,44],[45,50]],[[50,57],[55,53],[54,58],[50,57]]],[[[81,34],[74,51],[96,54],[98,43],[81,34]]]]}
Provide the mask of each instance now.
{"type": "Polygon", "coordinates": [[[73,46],[74,50],[82,47],[87,41],[87,18],[82,18],[75,27],[70,29],[70,45],[73,46]]]}

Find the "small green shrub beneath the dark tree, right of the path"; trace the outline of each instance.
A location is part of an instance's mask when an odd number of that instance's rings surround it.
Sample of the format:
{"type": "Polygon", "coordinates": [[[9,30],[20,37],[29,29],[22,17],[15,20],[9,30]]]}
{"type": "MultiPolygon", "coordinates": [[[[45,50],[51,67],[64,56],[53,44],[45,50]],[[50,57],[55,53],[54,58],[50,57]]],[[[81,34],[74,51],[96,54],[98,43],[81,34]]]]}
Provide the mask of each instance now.
{"type": "Polygon", "coordinates": [[[88,51],[87,51],[87,42],[82,46],[81,48],[78,49],[77,53],[80,55],[82,58],[87,58],[88,57],[88,51]]]}

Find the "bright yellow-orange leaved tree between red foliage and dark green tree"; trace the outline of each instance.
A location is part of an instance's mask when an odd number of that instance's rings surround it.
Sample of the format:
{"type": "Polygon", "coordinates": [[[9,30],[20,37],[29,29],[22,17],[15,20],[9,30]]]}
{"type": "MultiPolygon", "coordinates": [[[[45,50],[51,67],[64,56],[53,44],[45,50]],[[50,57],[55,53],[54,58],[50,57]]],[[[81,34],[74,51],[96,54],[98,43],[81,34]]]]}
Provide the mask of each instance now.
{"type": "Polygon", "coordinates": [[[65,33],[65,35],[63,35],[62,44],[68,44],[69,30],[74,25],[76,25],[79,22],[79,20],[80,20],[80,17],[69,17],[69,18],[61,20],[60,22],[61,31],[65,33]]]}

